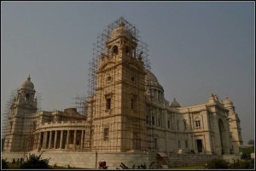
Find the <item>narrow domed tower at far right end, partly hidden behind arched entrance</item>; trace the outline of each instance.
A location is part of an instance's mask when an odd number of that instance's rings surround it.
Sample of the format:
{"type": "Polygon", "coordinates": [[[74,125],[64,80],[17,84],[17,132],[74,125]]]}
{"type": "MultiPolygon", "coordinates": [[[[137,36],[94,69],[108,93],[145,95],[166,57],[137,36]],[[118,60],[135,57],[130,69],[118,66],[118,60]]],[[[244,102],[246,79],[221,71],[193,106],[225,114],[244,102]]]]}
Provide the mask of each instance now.
{"type": "Polygon", "coordinates": [[[230,125],[230,135],[231,135],[231,144],[232,144],[232,152],[235,154],[238,154],[239,151],[239,145],[242,145],[243,141],[241,139],[241,126],[240,126],[240,119],[238,117],[238,114],[235,111],[235,107],[233,105],[233,102],[226,97],[223,101],[224,107],[229,110],[228,112],[228,119],[229,119],[229,125],[230,125]]]}

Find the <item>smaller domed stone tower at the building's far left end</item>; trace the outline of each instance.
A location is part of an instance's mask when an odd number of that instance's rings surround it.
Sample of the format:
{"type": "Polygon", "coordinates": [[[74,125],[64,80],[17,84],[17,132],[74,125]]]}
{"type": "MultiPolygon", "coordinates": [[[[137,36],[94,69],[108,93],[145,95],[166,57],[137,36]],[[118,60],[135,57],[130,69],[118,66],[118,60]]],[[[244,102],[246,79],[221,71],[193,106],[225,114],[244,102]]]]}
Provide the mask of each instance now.
{"type": "Polygon", "coordinates": [[[9,114],[9,124],[5,135],[3,151],[28,151],[32,143],[32,117],[37,111],[34,84],[27,77],[21,83],[9,114]]]}

